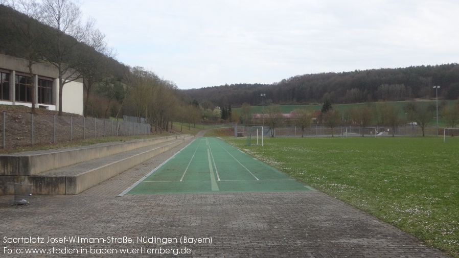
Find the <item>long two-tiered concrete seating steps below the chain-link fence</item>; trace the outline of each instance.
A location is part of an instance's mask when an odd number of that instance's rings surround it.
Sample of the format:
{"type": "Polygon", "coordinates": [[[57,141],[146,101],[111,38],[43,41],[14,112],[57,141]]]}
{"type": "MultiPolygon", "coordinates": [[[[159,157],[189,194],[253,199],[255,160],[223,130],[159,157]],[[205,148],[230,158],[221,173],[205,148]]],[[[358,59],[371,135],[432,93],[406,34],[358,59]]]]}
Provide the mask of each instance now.
{"type": "Polygon", "coordinates": [[[32,184],[32,194],[79,194],[193,138],[174,135],[0,156],[0,195],[14,183],[32,184]]]}

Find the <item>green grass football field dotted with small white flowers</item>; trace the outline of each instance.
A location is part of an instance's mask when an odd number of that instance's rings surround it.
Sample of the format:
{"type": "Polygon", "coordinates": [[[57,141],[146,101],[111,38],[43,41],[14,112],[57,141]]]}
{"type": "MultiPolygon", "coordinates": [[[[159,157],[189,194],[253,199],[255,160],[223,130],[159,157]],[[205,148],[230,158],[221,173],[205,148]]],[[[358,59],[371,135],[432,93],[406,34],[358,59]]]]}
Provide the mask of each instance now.
{"type": "Polygon", "coordinates": [[[459,137],[224,140],[459,257],[459,137]]]}

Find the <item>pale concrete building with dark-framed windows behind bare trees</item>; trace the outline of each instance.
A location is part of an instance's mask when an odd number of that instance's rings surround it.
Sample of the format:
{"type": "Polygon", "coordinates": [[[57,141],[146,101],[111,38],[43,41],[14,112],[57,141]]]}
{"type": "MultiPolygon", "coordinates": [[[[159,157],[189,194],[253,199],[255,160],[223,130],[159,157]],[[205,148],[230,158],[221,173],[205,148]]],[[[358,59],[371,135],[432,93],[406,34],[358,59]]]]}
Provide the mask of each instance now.
{"type": "MultiPolygon", "coordinates": [[[[0,104],[32,107],[32,90],[37,108],[59,109],[59,79],[56,67],[33,64],[30,78],[28,61],[0,54],[0,104]]],[[[62,90],[62,111],[83,114],[83,81],[68,82],[62,90]]]]}

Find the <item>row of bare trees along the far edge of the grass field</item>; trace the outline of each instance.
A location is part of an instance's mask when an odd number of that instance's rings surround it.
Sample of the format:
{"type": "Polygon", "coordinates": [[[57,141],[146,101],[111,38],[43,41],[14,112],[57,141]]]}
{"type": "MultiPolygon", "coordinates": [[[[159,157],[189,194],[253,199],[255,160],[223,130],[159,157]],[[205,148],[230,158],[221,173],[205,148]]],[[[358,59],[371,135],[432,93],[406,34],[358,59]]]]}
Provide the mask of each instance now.
{"type": "MultiPolygon", "coordinates": [[[[395,136],[396,128],[399,125],[412,123],[422,130],[425,136],[425,129],[432,123],[437,115],[437,107],[432,103],[409,102],[404,107],[395,105],[392,102],[365,103],[361,106],[352,105],[346,110],[333,109],[330,100],[326,100],[320,111],[312,108],[300,108],[292,112],[293,117],[285,118],[279,105],[270,105],[265,108],[261,118],[254,119],[250,113],[250,105],[244,103],[241,108],[240,121],[244,125],[262,125],[269,127],[271,136],[274,137],[274,130],[284,125],[294,125],[301,128],[302,137],[306,128],[315,125],[324,125],[331,129],[338,126],[369,127],[373,125],[386,126],[391,128],[392,136],[395,136]],[[401,115],[401,114],[405,115],[401,115]]],[[[439,109],[447,128],[456,128],[459,125],[459,100],[448,106],[441,103],[439,109]]],[[[363,135],[362,135],[363,136],[363,135]]]]}

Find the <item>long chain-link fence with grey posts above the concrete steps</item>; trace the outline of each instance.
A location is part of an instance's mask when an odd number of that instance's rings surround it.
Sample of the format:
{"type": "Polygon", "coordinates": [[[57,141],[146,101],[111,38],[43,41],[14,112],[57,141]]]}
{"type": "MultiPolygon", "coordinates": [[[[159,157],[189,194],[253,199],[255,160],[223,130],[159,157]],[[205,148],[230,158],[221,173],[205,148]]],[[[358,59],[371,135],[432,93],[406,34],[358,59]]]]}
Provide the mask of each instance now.
{"type": "Polygon", "coordinates": [[[150,134],[150,125],[82,116],[0,114],[3,148],[63,143],[87,138],[150,134]]]}

